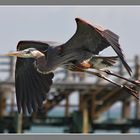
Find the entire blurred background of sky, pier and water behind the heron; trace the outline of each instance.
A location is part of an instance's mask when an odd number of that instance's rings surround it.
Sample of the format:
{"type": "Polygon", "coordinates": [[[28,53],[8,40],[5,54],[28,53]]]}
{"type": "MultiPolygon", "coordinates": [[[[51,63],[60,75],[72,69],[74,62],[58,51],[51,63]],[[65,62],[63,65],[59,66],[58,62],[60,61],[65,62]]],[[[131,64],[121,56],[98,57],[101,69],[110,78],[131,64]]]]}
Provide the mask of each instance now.
{"type": "MultiPolygon", "coordinates": [[[[19,40],[64,43],[75,33],[74,19],[79,17],[120,36],[120,44],[133,69],[132,78],[139,79],[139,15],[138,6],[1,6],[0,54],[16,50],[19,40]]],[[[108,48],[101,54],[112,53],[108,48]]],[[[139,132],[138,101],[96,77],[62,68],[55,72],[45,111],[28,117],[18,115],[14,62],[9,57],[0,58],[1,133],[139,132]]],[[[128,76],[120,63],[113,70],[128,76]]]]}

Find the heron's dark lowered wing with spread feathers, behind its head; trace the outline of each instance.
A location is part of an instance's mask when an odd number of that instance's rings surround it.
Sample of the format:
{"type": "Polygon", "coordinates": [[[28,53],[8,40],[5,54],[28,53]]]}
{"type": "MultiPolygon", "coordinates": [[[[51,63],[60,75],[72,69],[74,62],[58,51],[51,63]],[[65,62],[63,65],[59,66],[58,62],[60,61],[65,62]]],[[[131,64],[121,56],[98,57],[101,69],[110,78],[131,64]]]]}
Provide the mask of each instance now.
{"type": "MultiPolygon", "coordinates": [[[[17,50],[36,48],[45,51],[48,44],[36,41],[21,41],[17,50]]],[[[40,74],[34,67],[33,58],[17,58],[15,71],[16,100],[18,112],[29,113],[37,111],[46,99],[46,94],[52,85],[53,73],[40,74]]]]}

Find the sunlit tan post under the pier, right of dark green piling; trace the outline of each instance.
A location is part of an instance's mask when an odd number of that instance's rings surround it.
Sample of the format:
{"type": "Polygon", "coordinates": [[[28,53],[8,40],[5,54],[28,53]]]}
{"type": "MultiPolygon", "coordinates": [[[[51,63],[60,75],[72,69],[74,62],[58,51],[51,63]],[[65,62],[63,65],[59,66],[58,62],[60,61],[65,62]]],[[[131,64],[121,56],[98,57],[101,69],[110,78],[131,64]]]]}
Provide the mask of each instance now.
{"type": "Polygon", "coordinates": [[[89,113],[86,99],[83,103],[83,133],[89,133],[89,113]]]}

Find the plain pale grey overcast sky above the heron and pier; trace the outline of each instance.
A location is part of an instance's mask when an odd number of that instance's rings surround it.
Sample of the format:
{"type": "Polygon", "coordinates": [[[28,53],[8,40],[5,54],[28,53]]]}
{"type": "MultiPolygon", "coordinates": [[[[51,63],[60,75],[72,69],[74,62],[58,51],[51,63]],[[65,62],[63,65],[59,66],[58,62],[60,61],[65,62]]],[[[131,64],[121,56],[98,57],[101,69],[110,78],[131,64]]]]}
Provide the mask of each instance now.
{"type": "Polygon", "coordinates": [[[19,40],[66,42],[76,30],[76,17],[117,33],[126,58],[140,53],[138,6],[1,6],[0,53],[15,50],[19,40]]]}

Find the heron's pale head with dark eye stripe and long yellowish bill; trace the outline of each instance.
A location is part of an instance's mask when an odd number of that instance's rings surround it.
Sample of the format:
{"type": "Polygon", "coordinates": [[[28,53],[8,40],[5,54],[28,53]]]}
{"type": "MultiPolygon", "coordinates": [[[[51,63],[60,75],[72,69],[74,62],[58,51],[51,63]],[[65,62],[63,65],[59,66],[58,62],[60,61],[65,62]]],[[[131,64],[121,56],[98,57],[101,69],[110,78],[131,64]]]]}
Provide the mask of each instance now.
{"type": "Polygon", "coordinates": [[[16,56],[20,58],[39,58],[41,56],[44,56],[44,54],[35,48],[28,48],[21,51],[7,53],[5,54],[5,56],[16,56]]]}

